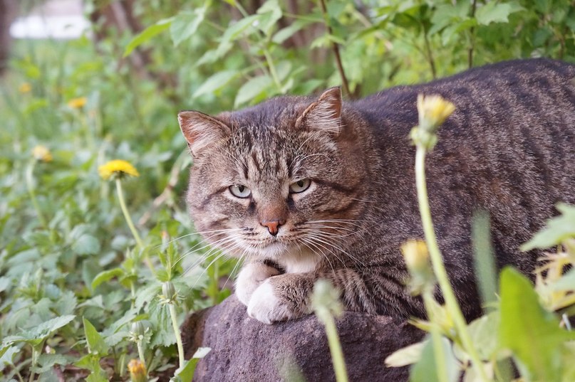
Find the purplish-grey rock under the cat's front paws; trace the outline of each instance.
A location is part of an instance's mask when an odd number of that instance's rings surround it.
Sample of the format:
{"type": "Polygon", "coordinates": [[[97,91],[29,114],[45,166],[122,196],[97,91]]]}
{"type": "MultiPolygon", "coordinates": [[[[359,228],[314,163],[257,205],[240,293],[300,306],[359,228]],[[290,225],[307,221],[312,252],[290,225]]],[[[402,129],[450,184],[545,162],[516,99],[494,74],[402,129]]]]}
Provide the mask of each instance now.
{"type": "MultiPolygon", "coordinates": [[[[386,368],[393,351],[413,344],[423,332],[388,316],[344,312],[337,320],[349,381],[407,381],[408,368],[386,368]]],[[[323,325],[314,315],[266,325],[247,316],[234,296],[196,312],[182,325],[186,358],[200,346],[212,348],[200,360],[194,382],[335,381],[323,325]]]]}

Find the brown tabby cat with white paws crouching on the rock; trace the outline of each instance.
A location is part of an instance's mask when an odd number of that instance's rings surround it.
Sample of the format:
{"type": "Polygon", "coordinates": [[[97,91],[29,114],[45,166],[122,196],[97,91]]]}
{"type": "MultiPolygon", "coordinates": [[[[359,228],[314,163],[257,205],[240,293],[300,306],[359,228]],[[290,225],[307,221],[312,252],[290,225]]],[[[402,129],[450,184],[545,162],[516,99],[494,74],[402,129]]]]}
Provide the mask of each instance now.
{"type": "Polygon", "coordinates": [[[481,313],[470,226],[489,213],[497,267],[529,274],[519,245],[575,203],[575,66],[514,60],[343,102],[276,97],[217,117],[180,112],[193,165],[187,203],[205,240],[245,260],[236,295],[270,324],[311,313],[318,278],[346,309],[425,317],[400,245],[423,238],[415,191],[418,94],[455,112],[426,161],[432,218],[467,319],[481,313]]]}

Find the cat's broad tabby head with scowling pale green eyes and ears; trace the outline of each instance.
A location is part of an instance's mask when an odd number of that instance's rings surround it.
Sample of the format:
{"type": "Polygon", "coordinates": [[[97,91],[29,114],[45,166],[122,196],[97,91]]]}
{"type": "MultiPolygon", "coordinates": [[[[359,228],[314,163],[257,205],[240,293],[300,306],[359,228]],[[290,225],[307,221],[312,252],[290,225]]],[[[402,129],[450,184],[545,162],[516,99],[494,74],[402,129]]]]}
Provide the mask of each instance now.
{"type": "Polygon", "coordinates": [[[180,112],[197,230],[237,257],[333,252],[357,226],[367,176],[349,115],[338,87],[217,117],[180,112]]]}

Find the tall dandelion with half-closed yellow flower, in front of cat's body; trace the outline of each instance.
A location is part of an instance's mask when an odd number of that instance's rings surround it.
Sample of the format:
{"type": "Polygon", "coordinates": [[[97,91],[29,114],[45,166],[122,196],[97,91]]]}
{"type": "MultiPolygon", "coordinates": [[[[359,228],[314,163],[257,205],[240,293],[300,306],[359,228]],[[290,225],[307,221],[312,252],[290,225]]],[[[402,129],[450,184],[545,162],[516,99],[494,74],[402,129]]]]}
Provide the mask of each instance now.
{"type": "Polygon", "coordinates": [[[443,264],[442,255],[437,245],[437,237],[435,236],[435,230],[433,228],[428,187],[425,181],[425,155],[428,151],[431,151],[437,143],[437,128],[454,110],[455,105],[440,96],[418,96],[420,125],[419,127],[414,127],[410,134],[416,147],[415,184],[418,191],[418,204],[425,242],[428,244],[433,272],[435,273],[435,277],[437,277],[437,283],[445,299],[445,307],[453,319],[457,336],[462,343],[463,349],[469,354],[473,367],[477,370],[477,375],[480,376],[481,381],[488,381],[485,368],[482,367],[483,364],[480,356],[472,344],[471,336],[467,331],[467,323],[465,322],[459,304],[457,304],[457,299],[452,290],[449,277],[447,277],[447,271],[443,264]]]}

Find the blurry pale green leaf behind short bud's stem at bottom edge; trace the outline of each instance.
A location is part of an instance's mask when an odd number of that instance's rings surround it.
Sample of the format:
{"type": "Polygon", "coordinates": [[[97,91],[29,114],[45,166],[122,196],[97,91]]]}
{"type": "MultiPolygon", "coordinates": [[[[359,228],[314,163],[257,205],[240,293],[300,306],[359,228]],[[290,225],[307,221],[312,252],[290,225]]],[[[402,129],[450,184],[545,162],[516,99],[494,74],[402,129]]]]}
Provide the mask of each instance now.
{"type": "MultiPolygon", "coordinates": [[[[413,365],[410,369],[409,381],[410,382],[439,382],[437,379],[437,368],[435,365],[435,353],[433,351],[433,344],[428,336],[424,341],[421,357],[417,364],[413,365]]],[[[447,381],[455,382],[460,374],[459,364],[453,354],[451,343],[445,337],[441,338],[443,346],[443,354],[445,355],[445,369],[447,370],[447,381]]]]}

